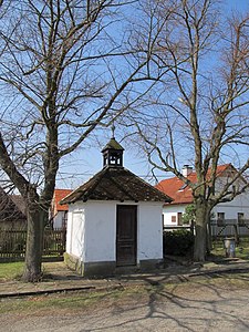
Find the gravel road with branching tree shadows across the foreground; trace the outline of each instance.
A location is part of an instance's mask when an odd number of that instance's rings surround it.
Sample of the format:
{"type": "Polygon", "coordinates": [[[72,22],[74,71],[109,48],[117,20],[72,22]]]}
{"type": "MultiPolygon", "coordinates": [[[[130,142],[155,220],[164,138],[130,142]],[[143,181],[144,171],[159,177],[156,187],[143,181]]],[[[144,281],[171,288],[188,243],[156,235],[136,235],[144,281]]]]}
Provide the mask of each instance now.
{"type": "MultiPolygon", "coordinates": [[[[246,276],[232,281],[226,276],[194,278],[143,291],[129,288],[122,297],[103,295],[86,307],[6,312],[0,314],[0,331],[249,331],[248,293],[246,276]]],[[[1,305],[10,301],[28,300],[6,299],[1,305]]]]}

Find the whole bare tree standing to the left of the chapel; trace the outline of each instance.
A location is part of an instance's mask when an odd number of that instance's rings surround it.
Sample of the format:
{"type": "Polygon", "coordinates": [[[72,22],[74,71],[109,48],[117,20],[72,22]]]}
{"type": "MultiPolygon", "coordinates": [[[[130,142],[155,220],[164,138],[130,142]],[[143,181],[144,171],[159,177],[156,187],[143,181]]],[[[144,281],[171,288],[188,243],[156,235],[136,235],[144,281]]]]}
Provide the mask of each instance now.
{"type": "Polygon", "coordinates": [[[135,84],[152,80],[151,56],[124,31],[128,1],[7,2],[0,22],[0,164],[25,200],[23,279],[34,281],[60,160],[149,90],[139,85],[138,94],[135,84]]]}

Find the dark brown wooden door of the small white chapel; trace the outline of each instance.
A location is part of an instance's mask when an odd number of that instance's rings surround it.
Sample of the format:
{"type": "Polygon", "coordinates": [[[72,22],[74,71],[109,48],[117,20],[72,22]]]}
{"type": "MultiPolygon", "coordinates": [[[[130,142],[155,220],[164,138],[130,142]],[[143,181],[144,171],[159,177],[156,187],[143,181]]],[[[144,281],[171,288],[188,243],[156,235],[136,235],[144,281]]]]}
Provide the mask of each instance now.
{"type": "Polygon", "coordinates": [[[134,205],[118,205],[116,218],[116,264],[136,264],[136,215],[134,205]]]}

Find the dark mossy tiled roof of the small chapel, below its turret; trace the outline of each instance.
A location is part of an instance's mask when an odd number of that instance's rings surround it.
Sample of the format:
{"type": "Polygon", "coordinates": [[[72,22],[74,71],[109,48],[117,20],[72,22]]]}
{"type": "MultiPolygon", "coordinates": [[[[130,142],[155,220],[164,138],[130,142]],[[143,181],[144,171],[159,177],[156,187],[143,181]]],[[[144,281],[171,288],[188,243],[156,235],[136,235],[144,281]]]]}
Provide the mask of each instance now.
{"type": "Polygon", "coordinates": [[[77,200],[120,200],[120,201],[172,201],[170,197],[157,190],[123,167],[104,167],[87,183],[80,186],[61,204],[77,200]]]}

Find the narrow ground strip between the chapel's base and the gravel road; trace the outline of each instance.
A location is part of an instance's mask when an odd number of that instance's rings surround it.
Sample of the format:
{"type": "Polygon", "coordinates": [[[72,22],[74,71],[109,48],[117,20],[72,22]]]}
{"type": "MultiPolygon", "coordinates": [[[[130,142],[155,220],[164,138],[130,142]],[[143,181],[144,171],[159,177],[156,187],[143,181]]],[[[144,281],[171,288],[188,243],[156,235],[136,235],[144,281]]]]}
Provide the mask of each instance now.
{"type": "MultiPolygon", "coordinates": [[[[19,295],[33,295],[68,290],[108,290],[118,289],[127,284],[157,284],[160,282],[177,282],[189,280],[194,276],[216,274],[222,272],[249,271],[249,262],[240,259],[224,259],[204,264],[170,263],[162,270],[152,273],[134,273],[117,276],[116,278],[85,279],[65,268],[63,262],[56,262],[50,268],[44,263],[49,278],[38,283],[21,281],[0,282],[0,299],[19,295]]],[[[1,266],[0,266],[1,268],[1,266]]]]}

